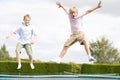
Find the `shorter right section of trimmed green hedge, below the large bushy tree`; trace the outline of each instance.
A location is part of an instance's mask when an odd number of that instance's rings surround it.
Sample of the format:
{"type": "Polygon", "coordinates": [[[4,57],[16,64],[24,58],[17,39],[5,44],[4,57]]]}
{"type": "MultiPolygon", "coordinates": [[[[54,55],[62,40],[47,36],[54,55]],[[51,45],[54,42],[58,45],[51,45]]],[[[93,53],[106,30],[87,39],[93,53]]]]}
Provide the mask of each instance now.
{"type": "Polygon", "coordinates": [[[120,74],[120,64],[83,64],[81,74],[120,74]]]}

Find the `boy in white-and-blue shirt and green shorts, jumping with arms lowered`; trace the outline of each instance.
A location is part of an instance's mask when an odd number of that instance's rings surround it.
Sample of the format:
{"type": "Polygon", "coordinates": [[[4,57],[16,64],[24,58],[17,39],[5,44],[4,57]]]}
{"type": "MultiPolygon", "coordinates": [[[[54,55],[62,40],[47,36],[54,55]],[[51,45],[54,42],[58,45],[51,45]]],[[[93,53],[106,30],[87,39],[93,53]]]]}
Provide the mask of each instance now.
{"type": "Polygon", "coordinates": [[[30,59],[30,67],[31,69],[34,69],[33,65],[33,57],[32,57],[32,44],[35,43],[37,34],[34,30],[34,27],[30,24],[31,17],[29,14],[26,14],[23,17],[23,23],[19,25],[19,28],[14,31],[10,32],[7,36],[6,39],[10,38],[13,34],[18,34],[20,36],[19,41],[16,46],[16,59],[18,62],[18,67],[17,69],[21,69],[21,59],[20,59],[20,53],[21,49],[25,48],[29,59],[30,59]]]}

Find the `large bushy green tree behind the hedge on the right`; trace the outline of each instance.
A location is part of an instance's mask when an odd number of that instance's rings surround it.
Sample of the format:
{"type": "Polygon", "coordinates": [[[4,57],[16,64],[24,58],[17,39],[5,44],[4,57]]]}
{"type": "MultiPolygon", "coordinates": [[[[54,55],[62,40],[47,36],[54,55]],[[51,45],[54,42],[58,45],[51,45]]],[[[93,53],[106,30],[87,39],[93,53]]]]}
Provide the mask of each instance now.
{"type": "Polygon", "coordinates": [[[90,42],[91,54],[96,58],[96,63],[119,64],[120,53],[114,48],[112,42],[105,37],[95,42],[90,42]]]}

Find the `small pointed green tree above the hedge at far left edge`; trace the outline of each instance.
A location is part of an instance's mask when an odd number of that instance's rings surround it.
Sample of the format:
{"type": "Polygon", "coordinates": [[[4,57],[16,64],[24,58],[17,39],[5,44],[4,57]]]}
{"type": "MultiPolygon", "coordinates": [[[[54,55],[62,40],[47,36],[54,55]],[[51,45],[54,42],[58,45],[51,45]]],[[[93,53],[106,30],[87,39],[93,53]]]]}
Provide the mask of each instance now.
{"type": "Polygon", "coordinates": [[[4,44],[0,49],[0,60],[9,60],[9,59],[10,59],[10,56],[4,44]]]}

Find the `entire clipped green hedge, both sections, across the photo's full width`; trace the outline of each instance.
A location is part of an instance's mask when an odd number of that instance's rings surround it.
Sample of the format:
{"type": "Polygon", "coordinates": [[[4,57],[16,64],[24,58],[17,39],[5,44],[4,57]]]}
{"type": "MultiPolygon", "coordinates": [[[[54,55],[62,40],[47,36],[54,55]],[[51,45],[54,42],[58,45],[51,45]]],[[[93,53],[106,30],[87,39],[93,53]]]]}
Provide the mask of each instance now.
{"type": "Polygon", "coordinates": [[[81,64],[52,62],[34,62],[32,70],[29,61],[22,62],[22,68],[17,70],[17,62],[0,61],[0,74],[9,75],[56,75],[56,74],[120,74],[120,64],[81,64]]]}

